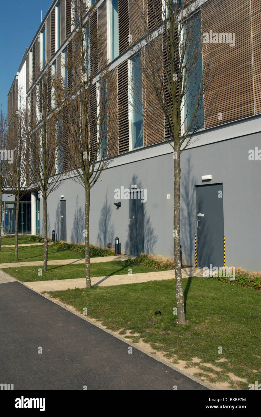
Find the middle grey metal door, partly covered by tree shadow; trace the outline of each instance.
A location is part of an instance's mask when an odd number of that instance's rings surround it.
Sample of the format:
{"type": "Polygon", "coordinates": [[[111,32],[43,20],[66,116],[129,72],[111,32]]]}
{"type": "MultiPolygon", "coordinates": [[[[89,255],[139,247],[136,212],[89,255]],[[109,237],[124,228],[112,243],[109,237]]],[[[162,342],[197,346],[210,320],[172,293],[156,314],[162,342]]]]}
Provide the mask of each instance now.
{"type": "Polygon", "coordinates": [[[131,191],[129,200],[129,239],[130,254],[139,256],[144,252],[144,203],[131,191]]]}

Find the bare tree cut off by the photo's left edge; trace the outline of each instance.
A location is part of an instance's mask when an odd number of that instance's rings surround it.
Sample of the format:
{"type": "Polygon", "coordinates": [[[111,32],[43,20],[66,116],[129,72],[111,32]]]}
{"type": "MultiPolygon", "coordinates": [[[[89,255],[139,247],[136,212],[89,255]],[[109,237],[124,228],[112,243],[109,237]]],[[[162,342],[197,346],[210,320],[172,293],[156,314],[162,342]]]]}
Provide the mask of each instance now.
{"type": "Polygon", "coordinates": [[[7,149],[7,118],[3,113],[1,106],[0,109],[0,251],[2,249],[2,204],[3,193],[7,186],[7,174],[8,174],[8,159],[9,163],[12,163],[10,150],[7,149]],[[9,158],[8,158],[9,151],[9,158]]]}

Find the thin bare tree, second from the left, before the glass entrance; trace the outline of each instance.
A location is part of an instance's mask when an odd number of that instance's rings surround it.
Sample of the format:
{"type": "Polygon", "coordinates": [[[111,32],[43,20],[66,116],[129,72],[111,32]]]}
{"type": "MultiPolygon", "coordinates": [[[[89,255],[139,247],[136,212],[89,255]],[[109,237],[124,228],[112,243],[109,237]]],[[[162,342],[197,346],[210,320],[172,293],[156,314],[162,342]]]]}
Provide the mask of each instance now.
{"type": "Polygon", "coordinates": [[[18,110],[10,118],[8,126],[8,148],[13,153],[9,165],[7,186],[16,198],[15,211],[15,260],[18,261],[18,216],[21,198],[28,192],[28,171],[26,169],[26,109],[23,106],[23,91],[18,91],[18,110]]]}

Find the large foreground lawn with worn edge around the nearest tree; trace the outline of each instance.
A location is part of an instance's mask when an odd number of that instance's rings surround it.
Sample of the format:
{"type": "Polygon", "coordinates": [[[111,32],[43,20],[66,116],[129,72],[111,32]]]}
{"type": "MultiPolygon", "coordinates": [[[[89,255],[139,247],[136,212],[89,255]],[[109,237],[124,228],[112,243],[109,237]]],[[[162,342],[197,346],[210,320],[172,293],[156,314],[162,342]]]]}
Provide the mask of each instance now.
{"type": "Polygon", "coordinates": [[[193,363],[198,367],[194,375],[204,375],[210,383],[228,382],[233,389],[249,389],[248,384],[261,382],[261,292],[203,278],[183,279],[183,289],[188,320],[183,326],[176,324],[173,315],[173,280],[55,291],[49,296],[81,313],[87,307],[85,317],[98,319],[108,329],[139,334],[126,337],[133,342],[142,338],[166,352],[173,363],[184,360],[189,367],[192,358],[199,358],[202,364],[193,363]],[[158,310],[161,315],[155,315],[158,310]],[[222,354],[218,354],[219,347],[222,354]],[[231,372],[247,382],[232,382],[231,372]]]}

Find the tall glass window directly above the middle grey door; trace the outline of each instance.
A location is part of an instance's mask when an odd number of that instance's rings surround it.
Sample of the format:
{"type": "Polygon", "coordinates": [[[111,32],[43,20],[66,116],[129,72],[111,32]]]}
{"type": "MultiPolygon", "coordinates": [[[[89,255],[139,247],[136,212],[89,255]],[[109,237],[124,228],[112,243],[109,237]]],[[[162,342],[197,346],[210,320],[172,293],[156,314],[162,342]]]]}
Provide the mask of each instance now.
{"type": "Polygon", "coordinates": [[[141,54],[130,62],[130,134],[132,149],[143,146],[141,54]]]}

